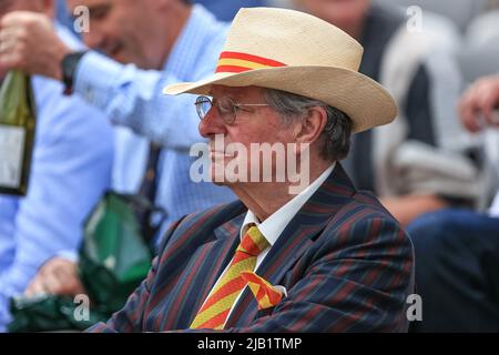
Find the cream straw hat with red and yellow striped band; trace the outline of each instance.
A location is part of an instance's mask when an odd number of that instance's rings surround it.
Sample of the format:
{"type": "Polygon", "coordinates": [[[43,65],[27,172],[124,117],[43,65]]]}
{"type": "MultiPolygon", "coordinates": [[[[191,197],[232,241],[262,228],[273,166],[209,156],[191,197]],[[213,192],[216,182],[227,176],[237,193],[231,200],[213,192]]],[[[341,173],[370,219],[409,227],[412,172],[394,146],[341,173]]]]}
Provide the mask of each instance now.
{"type": "Polygon", "coordinates": [[[167,85],[166,94],[210,94],[211,87],[263,87],[337,108],[353,131],[391,122],[397,105],[376,81],[360,74],[363,47],[337,27],[286,9],[241,9],[228,31],[215,73],[167,85]]]}

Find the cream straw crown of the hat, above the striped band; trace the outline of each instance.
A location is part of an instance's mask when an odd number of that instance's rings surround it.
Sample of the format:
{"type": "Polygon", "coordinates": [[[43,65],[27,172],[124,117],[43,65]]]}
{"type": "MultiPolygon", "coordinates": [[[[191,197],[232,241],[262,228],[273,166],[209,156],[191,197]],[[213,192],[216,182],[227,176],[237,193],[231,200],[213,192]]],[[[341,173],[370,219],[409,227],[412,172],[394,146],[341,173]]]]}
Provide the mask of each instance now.
{"type": "Polygon", "coordinates": [[[224,52],[257,55],[288,67],[358,71],[363,47],[337,27],[310,14],[273,8],[241,9],[224,52]],[[262,23],[267,19],[267,23],[262,23]]]}

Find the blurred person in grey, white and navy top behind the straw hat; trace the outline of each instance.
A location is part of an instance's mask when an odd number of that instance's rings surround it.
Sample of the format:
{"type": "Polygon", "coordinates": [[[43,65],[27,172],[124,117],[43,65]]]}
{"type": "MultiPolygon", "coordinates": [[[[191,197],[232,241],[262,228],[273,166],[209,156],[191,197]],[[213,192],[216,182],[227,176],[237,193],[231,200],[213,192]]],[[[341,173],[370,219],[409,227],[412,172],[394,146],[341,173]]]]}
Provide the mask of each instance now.
{"type": "Polygon", "coordinates": [[[454,111],[462,84],[455,26],[425,12],[425,26],[409,28],[405,12],[370,0],[293,3],[356,38],[364,45],[360,72],[398,102],[394,123],[353,140],[344,165],[357,187],[374,191],[405,225],[425,212],[476,203],[478,169],[450,151],[465,136],[454,111]]]}

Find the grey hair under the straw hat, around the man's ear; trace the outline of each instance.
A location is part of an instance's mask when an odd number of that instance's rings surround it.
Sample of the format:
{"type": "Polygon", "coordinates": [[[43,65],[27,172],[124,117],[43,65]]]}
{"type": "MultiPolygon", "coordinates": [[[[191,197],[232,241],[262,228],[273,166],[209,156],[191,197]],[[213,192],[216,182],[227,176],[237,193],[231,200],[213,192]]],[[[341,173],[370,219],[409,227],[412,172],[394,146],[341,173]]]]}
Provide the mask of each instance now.
{"type": "Polygon", "coordinates": [[[322,101],[282,90],[265,88],[264,97],[267,103],[282,115],[285,124],[291,124],[296,118],[306,116],[312,106],[324,108],[327,112],[327,123],[320,135],[324,141],[320,155],[330,161],[339,161],[347,156],[353,122],[345,112],[322,101]]]}

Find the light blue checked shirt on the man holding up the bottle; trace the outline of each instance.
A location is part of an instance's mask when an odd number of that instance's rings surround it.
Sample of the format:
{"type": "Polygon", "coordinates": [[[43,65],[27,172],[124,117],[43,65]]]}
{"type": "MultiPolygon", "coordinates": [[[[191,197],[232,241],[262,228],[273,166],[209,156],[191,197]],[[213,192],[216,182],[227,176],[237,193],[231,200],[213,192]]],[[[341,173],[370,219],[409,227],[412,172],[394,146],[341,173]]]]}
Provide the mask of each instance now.
{"type": "Polygon", "coordinates": [[[136,193],[144,175],[147,140],[163,145],[155,202],[169,213],[164,229],[185,214],[235,199],[227,187],[191,181],[195,159],[189,156],[189,150],[203,141],[195,98],[162,94],[166,84],[212,74],[227,30],[227,24],[196,4],[162,71],[123,65],[93,51],[83,55],[78,68],[75,92],[120,125],[115,129],[114,190],[136,193]]]}

